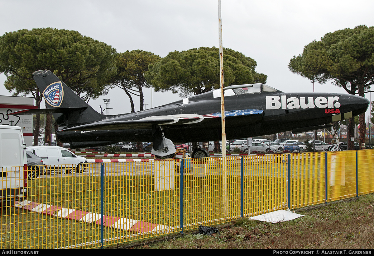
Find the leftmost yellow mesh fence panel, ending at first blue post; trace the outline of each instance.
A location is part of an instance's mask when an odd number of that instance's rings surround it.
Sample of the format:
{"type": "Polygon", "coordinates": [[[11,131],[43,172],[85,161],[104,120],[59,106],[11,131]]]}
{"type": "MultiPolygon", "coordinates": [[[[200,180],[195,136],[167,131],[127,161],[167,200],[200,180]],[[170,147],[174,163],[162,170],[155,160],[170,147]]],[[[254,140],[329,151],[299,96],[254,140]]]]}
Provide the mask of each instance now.
{"type": "Polygon", "coordinates": [[[0,247],[99,247],[99,216],[90,214],[99,211],[99,166],[48,166],[47,174],[28,179],[27,199],[2,209],[0,247]]]}

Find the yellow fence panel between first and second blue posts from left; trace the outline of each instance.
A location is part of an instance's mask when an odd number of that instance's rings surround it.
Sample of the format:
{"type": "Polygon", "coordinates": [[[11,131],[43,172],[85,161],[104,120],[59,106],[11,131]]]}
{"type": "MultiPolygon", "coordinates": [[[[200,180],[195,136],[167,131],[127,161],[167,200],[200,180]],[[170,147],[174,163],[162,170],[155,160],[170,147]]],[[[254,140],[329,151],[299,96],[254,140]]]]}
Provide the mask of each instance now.
{"type": "Polygon", "coordinates": [[[176,161],[105,165],[105,245],[179,231],[176,161]]]}

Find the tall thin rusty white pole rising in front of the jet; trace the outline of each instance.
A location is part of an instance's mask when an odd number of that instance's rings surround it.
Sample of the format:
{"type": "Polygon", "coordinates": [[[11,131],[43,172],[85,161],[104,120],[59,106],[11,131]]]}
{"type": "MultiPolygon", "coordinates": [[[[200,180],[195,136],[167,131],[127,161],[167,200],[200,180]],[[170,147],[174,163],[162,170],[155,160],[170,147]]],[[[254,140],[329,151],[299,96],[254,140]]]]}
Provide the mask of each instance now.
{"type": "Polygon", "coordinates": [[[226,128],[225,128],[225,99],[223,90],[223,46],[222,46],[222,19],[221,0],[218,0],[218,41],[220,44],[220,83],[221,83],[221,128],[222,128],[222,174],[223,174],[223,212],[228,214],[227,198],[227,159],[226,159],[226,128]]]}

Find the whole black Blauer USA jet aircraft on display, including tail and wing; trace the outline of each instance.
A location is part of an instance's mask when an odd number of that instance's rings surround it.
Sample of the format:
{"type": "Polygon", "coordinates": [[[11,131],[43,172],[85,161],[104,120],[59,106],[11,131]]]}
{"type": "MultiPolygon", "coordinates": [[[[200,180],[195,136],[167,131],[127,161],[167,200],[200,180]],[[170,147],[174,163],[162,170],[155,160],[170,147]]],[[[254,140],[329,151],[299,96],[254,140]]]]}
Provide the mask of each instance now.
{"type": "MultiPolygon", "coordinates": [[[[221,138],[220,90],[139,112],[107,116],[96,112],[49,70],[36,71],[33,78],[47,109],[21,110],[13,115],[52,113],[59,125],[58,139],[70,143],[71,148],[152,141],[152,152],[166,158],[175,153],[172,141],[221,138]]],[[[350,94],[284,93],[266,84],[229,86],[224,96],[227,139],[329,127],[332,122],[364,113],[370,103],[350,94]]],[[[208,156],[198,146],[193,149],[192,157],[208,156]]]]}

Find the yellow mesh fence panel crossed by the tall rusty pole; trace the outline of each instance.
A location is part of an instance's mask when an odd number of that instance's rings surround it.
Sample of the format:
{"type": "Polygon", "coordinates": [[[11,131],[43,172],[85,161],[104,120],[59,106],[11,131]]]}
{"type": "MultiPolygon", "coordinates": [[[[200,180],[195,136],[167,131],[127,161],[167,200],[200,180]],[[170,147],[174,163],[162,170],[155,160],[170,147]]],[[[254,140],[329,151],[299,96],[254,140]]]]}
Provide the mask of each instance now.
{"type": "Polygon", "coordinates": [[[212,225],[240,216],[240,158],[187,159],[183,184],[184,229],[212,225]],[[190,164],[191,163],[191,164],[190,164]]]}

